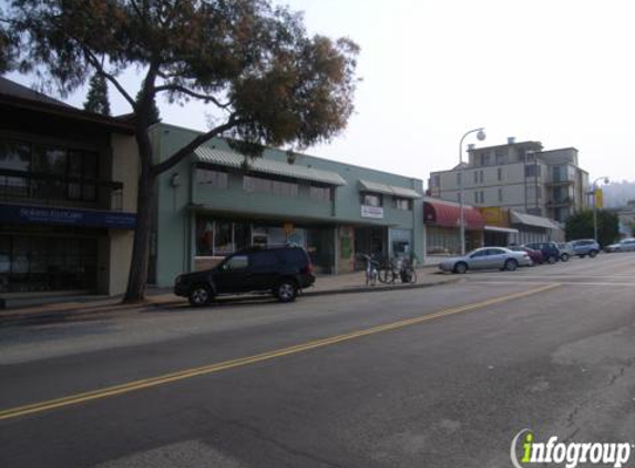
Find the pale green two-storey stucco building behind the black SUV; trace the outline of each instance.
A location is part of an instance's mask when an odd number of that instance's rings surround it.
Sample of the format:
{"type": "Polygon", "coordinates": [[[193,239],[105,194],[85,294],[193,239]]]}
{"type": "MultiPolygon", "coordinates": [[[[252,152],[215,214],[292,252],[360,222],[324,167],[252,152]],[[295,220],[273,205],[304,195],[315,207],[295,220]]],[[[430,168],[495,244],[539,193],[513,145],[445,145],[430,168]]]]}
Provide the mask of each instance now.
{"type": "MultiPolygon", "coordinates": [[[[198,132],[152,131],[158,160],[198,132]]],[[[318,273],[362,266],[358,253],[423,258],[422,181],[266,149],[249,160],[216,139],[158,180],[151,283],[213,266],[253,245],[296,243],[318,273]]]]}

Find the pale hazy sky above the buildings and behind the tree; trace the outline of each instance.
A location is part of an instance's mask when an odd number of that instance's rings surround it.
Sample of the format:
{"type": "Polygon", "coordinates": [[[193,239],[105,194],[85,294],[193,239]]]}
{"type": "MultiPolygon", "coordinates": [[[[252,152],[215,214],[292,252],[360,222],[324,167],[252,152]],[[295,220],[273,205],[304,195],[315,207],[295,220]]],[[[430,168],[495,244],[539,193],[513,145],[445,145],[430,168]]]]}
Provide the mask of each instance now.
{"type": "MultiPolygon", "coordinates": [[[[305,11],[311,33],[361,47],[356,114],[339,138],[306,153],[427,181],[458,163],[465,131],[485,126],[481,146],[508,136],[574,146],[591,177],[635,180],[632,1],[284,3],[305,11]]],[[[113,90],[111,102],[129,111],[113,90]]],[[[158,104],[165,122],[206,129],[204,105],[158,104]]]]}

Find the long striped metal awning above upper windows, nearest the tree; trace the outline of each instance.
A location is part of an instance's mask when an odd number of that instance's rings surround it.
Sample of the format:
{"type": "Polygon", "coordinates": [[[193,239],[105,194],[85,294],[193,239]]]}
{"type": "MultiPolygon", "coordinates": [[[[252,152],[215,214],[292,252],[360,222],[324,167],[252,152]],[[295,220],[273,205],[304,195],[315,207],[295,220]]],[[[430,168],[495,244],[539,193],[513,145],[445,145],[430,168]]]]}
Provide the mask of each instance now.
{"type": "MultiPolygon", "coordinates": [[[[243,167],[245,157],[247,157],[243,154],[207,146],[197,147],[194,150],[194,154],[196,154],[199,162],[234,169],[243,167]]],[[[319,182],[327,185],[346,185],[346,181],[336,172],[322,171],[298,164],[288,164],[279,161],[266,160],[264,157],[255,157],[250,160],[249,169],[263,174],[319,182]]]]}

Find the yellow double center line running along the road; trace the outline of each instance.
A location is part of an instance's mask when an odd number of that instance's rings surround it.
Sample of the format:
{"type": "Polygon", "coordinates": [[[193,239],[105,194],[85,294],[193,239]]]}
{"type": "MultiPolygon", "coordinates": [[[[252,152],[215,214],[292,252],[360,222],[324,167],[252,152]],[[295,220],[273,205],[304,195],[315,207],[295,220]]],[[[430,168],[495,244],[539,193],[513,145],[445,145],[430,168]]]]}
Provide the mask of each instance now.
{"type": "Polygon", "coordinates": [[[315,342],[303,343],[300,345],[290,346],[283,349],[276,349],[267,353],[256,354],[253,356],[240,357],[237,359],[224,360],[222,363],[211,364],[207,366],[195,367],[191,369],[180,370],[176,373],[164,374],[157,377],[144,378],[141,380],[130,381],[127,384],[115,385],[112,387],[102,388],[99,390],[86,391],[83,394],[70,395],[63,398],[51,399],[47,401],[34,403],[31,405],[19,406],[16,408],[8,408],[0,411],[0,420],[12,419],[21,416],[32,415],[35,413],[43,413],[50,409],[62,408],[64,406],[78,405],[80,403],[91,401],[101,398],[113,397],[123,395],[131,391],[141,390],[144,388],[156,387],[173,381],[184,380],[192,377],[197,377],[207,374],[214,374],[222,370],[233,369],[235,367],[246,366],[249,364],[262,363],[283,356],[288,356],[297,353],[304,353],[325,346],[335,345],[351,339],[361,338],[363,336],[375,335],[378,333],[390,332],[411,325],[421,324],[423,322],[434,321],[437,318],[448,317],[450,315],[461,314],[487,306],[505,303],[513,299],[531,296],[560,286],[559,284],[550,284],[546,286],[536,287],[534,289],[524,291],[521,293],[508,294],[505,296],[494,297],[492,299],[482,301],[479,303],[468,304],[464,306],[452,307],[444,311],[436,312],[432,314],[422,315],[414,318],[408,318],[400,322],[392,322],[386,325],[379,325],[371,328],[360,329],[357,332],[346,333],[344,335],[336,335],[329,338],[317,339],[315,342]]]}

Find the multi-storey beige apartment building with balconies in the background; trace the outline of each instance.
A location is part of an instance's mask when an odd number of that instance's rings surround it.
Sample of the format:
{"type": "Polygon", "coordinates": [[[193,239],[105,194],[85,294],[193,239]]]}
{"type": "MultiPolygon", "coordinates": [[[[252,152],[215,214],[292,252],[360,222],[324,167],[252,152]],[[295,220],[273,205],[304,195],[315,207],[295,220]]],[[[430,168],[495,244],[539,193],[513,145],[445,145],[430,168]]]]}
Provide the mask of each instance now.
{"type": "Polygon", "coordinates": [[[468,162],[450,171],[432,172],[430,196],[499,206],[564,222],[586,206],[588,173],[578,165],[575,147],[543,150],[537,141],[468,149],[468,162]]]}

